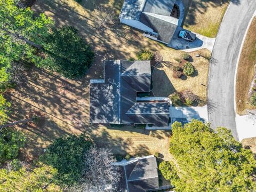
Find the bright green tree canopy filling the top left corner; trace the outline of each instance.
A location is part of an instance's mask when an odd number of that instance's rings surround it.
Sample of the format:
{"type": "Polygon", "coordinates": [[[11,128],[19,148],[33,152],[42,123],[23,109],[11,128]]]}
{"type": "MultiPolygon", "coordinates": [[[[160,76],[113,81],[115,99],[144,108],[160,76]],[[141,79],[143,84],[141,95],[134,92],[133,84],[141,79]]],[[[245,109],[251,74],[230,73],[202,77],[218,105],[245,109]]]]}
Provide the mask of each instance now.
{"type": "Polygon", "coordinates": [[[4,89],[9,81],[6,69],[13,61],[36,61],[34,47],[40,48],[48,35],[52,21],[40,14],[34,17],[30,8],[21,9],[15,0],[0,0],[0,85],[4,89]]]}

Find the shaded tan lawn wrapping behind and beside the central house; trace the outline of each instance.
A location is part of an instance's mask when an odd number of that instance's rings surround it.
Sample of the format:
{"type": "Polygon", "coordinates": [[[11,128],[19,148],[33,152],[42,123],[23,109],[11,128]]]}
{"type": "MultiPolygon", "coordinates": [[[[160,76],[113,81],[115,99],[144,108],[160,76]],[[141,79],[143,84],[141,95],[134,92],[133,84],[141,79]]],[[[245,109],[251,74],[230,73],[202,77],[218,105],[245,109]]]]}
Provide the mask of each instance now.
{"type": "Polygon", "coordinates": [[[136,58],[142,49],[158,51],[166,61],[181,55],[165,45],[152,41],[130,27],[119,24],[118,12],[123,1],[94,0],[77,4],[73,0],[37,0],[32,9],[45,12],[55,21],[55,26],[75,26],[90,43],[95,52],[92,67],[80,81],[70,81],[58,74],[33,67],[26,74],[27,82],[11,90],[7,97],[15,111],[10,122],[25,119],[31,115],[42,118],[37,123],[16,125],[27,135],[27,144],[21,158],[31,160],[43,153],[43,149],[55,138],[68,134],[89,134],[99,146],[109,147],[115,154],[147,155],[161,153],[170,159],[168,140],[170,132],[146,131],[132,127],[106,127],[89,124],[89,82],[102,77],[104,59],[136,58]],[[116,11],[116,26],[101,33],[95,29],[95,7],[108,6],[116,11]]]}

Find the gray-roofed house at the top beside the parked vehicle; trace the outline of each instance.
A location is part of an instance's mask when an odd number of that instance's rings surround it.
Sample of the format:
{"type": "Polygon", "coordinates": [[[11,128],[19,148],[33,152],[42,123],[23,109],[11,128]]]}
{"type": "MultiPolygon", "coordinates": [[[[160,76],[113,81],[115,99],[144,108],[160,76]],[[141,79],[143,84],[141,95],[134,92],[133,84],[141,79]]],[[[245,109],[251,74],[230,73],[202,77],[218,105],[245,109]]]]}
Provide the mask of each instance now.
{"type": "MultiPolygon", "coordinates": [[[[144,31],[144,36],[170,44],[179,17],[172,17],[175,0],[125,0],[121,23],[144,31]]],[[[179,10],[176,10],[176,12],[179,10]]]]}

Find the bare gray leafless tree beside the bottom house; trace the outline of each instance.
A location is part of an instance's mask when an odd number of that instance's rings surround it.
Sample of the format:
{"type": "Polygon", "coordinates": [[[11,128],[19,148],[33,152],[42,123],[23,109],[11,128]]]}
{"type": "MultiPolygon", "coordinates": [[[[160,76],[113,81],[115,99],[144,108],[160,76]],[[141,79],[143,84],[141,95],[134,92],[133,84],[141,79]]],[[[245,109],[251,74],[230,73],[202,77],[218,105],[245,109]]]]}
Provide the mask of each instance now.
{"type": "Polygon", "coordinates": [[[121,175],[118,166],[111,165],[115,161],[109,149],[92,147],[84,154],[81,181],[69,188],[69,191],[117,191],[121,175]]]}

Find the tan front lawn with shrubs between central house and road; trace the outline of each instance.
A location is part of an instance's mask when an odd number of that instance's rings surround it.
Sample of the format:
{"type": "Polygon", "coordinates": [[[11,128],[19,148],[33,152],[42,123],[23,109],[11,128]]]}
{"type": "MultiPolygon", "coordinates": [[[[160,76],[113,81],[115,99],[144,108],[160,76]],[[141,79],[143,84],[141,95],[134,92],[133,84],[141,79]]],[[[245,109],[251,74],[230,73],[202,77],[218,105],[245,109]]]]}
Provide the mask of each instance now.
{"type": "MultiPolygon", "coordinates": [[[[169,97],[170,94],[181,92],[183,90],[190,90],[196,94],[201,100],[207,99],[207,75],[209,70],[209,61],[203,57],[195,57],[196,54],[210,55],[208,50],[200,50],[189,53],[191,56],[191,64],[195,67],[193,76],[182,76],[181,78],[174,78],[172,76],[173,70],[160,65],[155,68],[153,74],[153,92],[155,96],[169,97]],[[202,85],[203,84],[203,85],[202,85]]],[[[174,65],[179,65],[177,61],[171,60],[174,65]]],[[[204,105],[202,103],[202,105],[204,105]]]]}

